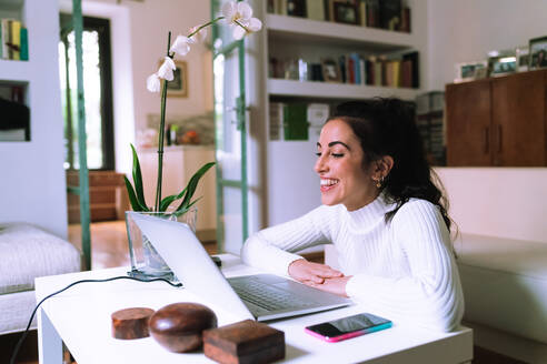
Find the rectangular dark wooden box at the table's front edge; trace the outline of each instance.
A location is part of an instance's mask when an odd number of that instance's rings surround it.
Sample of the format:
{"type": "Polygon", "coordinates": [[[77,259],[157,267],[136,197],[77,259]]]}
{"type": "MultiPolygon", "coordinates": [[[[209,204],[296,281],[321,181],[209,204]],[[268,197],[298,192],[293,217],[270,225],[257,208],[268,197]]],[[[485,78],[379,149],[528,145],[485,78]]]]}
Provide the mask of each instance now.
{"type": "Polygon", "coordinates": [[[245,320],[203,331],[203,352],[222,364],[271,363],[285,357],[285,333],[245,320]]]}

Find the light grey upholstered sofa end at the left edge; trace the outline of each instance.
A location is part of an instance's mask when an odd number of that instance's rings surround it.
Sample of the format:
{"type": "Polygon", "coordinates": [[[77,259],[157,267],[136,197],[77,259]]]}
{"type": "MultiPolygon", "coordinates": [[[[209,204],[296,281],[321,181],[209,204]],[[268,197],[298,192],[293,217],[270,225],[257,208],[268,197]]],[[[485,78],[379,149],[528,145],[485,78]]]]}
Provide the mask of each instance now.
{"type": "Polygon", "coordinates": [[[37,304],[36,277],[78,272],[81,257],[71,243],[27,223],[0,224],[0,252],[2,335],[27,327],[37,304]]]}

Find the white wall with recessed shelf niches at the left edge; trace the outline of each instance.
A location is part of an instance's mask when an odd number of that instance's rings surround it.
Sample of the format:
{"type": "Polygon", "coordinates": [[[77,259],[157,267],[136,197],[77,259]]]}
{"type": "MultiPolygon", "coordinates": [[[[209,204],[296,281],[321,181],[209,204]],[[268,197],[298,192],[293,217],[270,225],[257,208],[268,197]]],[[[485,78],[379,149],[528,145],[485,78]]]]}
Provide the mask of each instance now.
{"type": "Polygon", "coordinates": [[[30,142],[0,143],[0,222],[67,236],[57,0],[27,0],[29,61],[2,61],[0,79],[29,82],[30,142]]]}

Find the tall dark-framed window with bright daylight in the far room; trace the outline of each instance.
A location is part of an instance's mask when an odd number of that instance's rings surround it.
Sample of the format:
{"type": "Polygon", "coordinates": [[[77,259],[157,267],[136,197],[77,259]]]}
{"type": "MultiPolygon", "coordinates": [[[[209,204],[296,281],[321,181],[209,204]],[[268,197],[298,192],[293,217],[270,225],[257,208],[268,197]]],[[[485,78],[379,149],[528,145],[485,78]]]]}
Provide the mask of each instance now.
{"type": "MultiPolygon", "coordinates": [[[[90,170],[113,170],[113,117],[110,22],[83,17],[83,93],[87,160],[90,170]]],[[[76,46],[72,16],[61,14],[59,43],[61,102],[64,119],[64,168],[79,169],[76,46]]]]}

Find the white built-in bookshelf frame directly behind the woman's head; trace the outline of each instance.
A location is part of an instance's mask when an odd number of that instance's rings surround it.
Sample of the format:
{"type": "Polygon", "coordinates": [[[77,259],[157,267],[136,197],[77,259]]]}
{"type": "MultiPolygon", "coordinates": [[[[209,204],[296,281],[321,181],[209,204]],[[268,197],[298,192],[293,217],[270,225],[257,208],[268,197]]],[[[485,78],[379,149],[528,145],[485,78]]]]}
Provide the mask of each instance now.
{"type": "MultiPolygon", "coordinates": [[[[311,211],[320,204],[319,180],[312,166],[320,127],[310,125],[308,140],[270,139],[271,103],[327,103],[374,97],[415,100],[420,88],[299,81],[274,78],[270,58],[320,62],[324,57],[358,52],[404,54],[419,52],[419,84],[427,85],[427,3],[409,0],[411,32],[391,31],[332,21],[268,13],[266,1],[251,1],[255,16],[263,20],[261,32],[246,40],[246,82],[249,112],[248,179],[252,233],[311,211]]],[[[280,133],[282,134],[282,128],[280,133]]]]}

